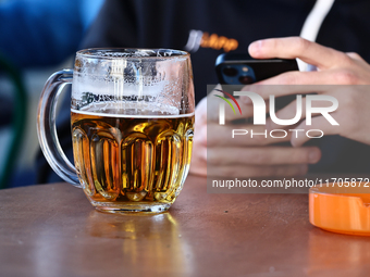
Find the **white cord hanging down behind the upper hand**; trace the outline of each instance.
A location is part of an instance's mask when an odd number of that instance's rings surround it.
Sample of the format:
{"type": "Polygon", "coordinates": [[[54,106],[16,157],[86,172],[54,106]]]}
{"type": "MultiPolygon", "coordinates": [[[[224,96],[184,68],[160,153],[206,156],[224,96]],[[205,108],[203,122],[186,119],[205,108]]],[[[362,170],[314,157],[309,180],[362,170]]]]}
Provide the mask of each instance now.
{"type": "MultiPolygon", "coordinates": [[[[334,0],[317,0],[311,12],[308,14],[300,30],[300,37],[314,41],[318,37],[322,22],[332,9],[334,0]]],[[[311,65],[297,59],[299,71],[309,71],[311,65]]]]}

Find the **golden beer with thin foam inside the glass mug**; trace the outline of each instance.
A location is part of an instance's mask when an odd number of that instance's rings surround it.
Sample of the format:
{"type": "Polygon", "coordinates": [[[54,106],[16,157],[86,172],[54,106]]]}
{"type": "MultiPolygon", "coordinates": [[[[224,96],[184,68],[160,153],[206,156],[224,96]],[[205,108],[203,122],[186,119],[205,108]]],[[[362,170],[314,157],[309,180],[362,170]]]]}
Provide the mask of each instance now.
{"type": "Polygon", "coordinates": [[[72,109],[71,121],[77,175],[98,210],[162,212],[175,201],[189,168],[194,113],[104,102],[72,109]]]}

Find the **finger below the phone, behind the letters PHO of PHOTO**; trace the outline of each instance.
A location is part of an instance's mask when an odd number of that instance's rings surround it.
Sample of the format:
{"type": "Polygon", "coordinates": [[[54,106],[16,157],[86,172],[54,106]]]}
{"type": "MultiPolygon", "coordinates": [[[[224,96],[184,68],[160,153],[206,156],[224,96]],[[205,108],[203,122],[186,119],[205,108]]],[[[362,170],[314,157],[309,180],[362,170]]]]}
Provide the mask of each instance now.
{"type": "Polygon", "coordinates": [[[258,125],[219,125],[208,124],[207,146],[208,147],[251,147],[268,146],[289,141],[292,134],[273,134],[270,136],[266,126],[258,125]],[[285,136],[286,135],[286,136],[285,136]],[[282,138],[274,138],[274,137],[282,138]],[[285,137],[284,137],[285,136],[285,137]]]}

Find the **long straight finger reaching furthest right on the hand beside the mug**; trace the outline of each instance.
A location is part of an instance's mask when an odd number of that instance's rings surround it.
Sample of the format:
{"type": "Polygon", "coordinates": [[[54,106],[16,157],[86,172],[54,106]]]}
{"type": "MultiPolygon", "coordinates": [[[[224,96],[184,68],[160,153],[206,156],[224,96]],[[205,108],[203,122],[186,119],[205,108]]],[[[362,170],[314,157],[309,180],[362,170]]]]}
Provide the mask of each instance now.
{"type": "Polygon", "coordinates": [[[314,164],[321,159],[317,147],[208,148],[209,165],[314,164]]]}

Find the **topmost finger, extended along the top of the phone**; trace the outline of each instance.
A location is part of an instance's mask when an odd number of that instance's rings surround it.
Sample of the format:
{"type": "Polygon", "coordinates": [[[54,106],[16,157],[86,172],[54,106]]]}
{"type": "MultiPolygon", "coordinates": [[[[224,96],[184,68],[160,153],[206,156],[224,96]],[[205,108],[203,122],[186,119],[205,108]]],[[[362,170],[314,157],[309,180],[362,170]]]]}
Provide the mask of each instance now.
{"type": "Polygon", "coordinates": [[[271,38],[252,42],[248,49],[250,55],[256,59],[296,59],[319,68],[331,68],[348,56],[332,48],[323,47],[300,37],[271,38]]]}

